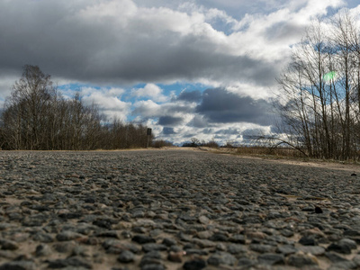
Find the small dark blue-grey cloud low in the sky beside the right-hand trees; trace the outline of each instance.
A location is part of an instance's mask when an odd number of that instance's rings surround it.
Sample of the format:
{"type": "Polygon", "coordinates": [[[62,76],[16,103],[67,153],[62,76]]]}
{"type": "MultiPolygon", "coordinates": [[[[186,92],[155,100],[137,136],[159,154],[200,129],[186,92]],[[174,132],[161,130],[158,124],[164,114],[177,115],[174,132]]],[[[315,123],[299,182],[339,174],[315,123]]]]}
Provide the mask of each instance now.
{"type": "Polygon", "coordinates": [[[254,100],[248,96],[238,96],[224,89],[205,90],[196,112],[210,122],[253,122],[260,125],[271,124],[271,106],[265,100],[254,100]]]}

